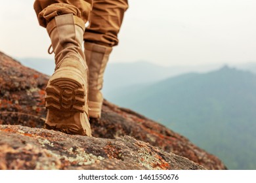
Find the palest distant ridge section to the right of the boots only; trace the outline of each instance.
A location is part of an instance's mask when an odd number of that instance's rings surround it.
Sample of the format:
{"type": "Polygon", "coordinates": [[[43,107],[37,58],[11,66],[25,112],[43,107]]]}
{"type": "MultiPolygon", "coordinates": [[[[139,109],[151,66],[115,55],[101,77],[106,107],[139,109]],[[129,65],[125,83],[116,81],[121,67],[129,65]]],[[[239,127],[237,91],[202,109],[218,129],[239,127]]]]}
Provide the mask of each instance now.
{"type": "Polygon", "coordinates": [[[164,67],[147,61],[133,63],[109,63],[104,75],[103,93],[105,97],[112,97],[112,93],[120,88],[153,84],[171,76],[188,72],[207,72],[219,68],[219,64],[197,66],[164,67]]]}

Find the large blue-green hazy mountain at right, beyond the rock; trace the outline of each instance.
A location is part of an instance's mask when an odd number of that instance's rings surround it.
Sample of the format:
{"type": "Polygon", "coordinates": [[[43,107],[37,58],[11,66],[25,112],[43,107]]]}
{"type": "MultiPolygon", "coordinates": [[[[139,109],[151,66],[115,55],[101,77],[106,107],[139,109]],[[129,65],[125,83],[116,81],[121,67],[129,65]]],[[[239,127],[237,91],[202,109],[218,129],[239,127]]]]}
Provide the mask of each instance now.
{"type": "Polygon", "coordinates": [[[256,169],[256,75],[223,67],[119,92],[110,101],[171,127],[229,169],[256,169]]]}

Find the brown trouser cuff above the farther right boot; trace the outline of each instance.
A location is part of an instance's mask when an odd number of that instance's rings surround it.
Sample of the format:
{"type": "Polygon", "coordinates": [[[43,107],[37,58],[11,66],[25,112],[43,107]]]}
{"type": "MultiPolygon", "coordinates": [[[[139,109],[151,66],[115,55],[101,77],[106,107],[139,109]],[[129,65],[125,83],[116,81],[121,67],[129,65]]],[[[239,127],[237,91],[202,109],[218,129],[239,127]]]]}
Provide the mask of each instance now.
{"type": "Polygon", "coordinates": [[[128,8],[127,0],[94,0],[89,16],[89,27],[85,30],[85,42],[94,42],[104,46],[116,46],[117,34],[128,8]]]}

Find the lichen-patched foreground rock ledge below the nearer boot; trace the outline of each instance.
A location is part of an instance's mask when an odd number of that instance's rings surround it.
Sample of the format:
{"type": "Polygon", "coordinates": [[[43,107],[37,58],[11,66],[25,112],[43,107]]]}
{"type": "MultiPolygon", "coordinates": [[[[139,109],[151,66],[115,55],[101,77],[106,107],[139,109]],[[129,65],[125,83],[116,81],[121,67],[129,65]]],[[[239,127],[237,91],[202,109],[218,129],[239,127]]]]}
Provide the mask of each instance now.
{"type": "Polygon", "coordinates": [[[204,169],[132,137],[100,139],[0,125],[0,169],[204,169]]]}

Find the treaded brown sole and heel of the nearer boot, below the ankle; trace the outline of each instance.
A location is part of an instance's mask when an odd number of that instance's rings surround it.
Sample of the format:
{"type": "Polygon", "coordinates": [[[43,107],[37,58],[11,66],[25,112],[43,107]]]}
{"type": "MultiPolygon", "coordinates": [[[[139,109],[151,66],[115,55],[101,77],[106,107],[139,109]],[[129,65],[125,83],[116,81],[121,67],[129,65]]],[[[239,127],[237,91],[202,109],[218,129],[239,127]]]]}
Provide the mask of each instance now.
{"type": "Polygon", "coordinates": [[[73,67],[58,69],[45,89],[45,128],[68,134],[91,136],[85,114],[85,81],[73,67]]]}

